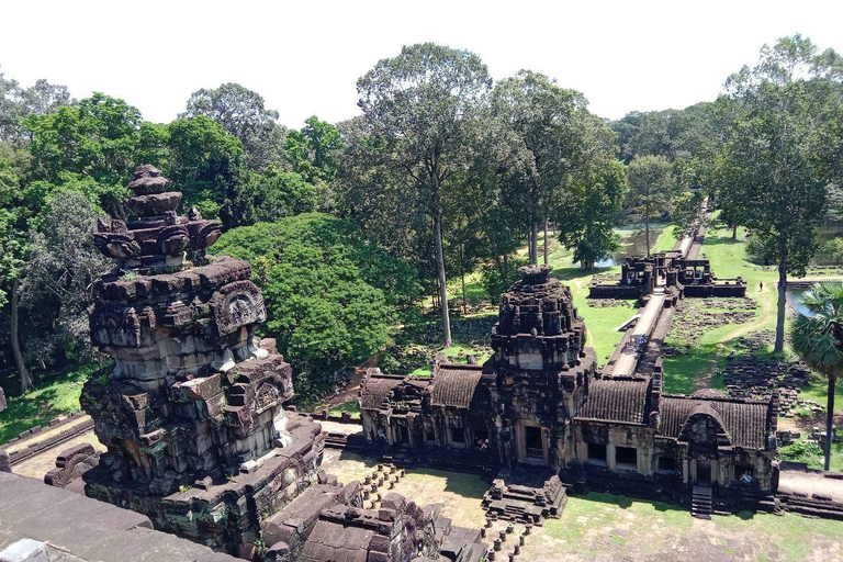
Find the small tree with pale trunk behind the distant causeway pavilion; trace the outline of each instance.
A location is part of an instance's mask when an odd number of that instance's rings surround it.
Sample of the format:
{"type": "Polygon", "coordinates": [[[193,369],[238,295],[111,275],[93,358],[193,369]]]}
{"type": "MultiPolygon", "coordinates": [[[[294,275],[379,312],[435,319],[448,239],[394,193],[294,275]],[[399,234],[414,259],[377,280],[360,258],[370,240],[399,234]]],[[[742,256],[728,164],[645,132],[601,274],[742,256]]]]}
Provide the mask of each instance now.
{"type": "Polygon", "coordinates": [[[647,255],[650,255],[650,221],[670,212],[674,191],[673,170],[664,156],[637,156],[627,168],[627,207],[644,221],[647,255]]]}

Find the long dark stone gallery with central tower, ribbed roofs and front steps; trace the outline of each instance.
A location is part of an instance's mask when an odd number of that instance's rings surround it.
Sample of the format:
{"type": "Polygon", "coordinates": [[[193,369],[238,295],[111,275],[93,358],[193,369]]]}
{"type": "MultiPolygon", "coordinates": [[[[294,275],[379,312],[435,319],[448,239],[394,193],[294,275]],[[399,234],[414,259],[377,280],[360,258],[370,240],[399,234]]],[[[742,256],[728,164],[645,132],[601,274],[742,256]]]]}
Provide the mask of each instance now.
{"type": "MultiPolygon", "coordinates": [[[[394,457],[501,470],[488,513],[527,521],[563,506],[560,477],[638,496],[704,493],[709,503],[712,491],[775,491],[775,395],[667,394],[661,361],[645,373],[597,373],[571,292],[548,266],[521,272],[503,296],[485,364],[440,363],[428,380],[369,373],[367,439],[394,457]]],[[[652,305],[666,306],[663,296],[652,305]]]]}

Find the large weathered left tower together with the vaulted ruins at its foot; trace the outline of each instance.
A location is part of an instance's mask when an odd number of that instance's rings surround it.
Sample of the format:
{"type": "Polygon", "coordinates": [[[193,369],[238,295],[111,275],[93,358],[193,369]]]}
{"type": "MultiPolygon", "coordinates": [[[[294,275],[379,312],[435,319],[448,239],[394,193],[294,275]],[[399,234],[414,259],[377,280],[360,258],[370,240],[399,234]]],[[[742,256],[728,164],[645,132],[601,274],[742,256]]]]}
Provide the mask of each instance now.
{"type": "Polygon", "coordinates": [[[130,216],[94,234],[115,267],[93,286],[91,338],[114,366],[81,403],[108,451],[65,451],[47,483],[247,559],[408,562],[446,549],[479,561],[481,531],[452,526],[441,505],[375,494],[401,477],[394,467],[366,490],[319,469],[321,425],[284,408],[292,368],[255,335],[266,308],[249,265],[209,259],[220,224],[195,209],[179,216],[167,183],[139,166],[130,216]]]}

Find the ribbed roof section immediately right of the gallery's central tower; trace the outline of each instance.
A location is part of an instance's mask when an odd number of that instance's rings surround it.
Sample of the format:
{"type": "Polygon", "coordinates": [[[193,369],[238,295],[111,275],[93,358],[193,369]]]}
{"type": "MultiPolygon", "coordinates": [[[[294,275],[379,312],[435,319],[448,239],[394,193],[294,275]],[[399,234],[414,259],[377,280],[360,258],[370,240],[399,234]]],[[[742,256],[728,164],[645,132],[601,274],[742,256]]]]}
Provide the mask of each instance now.
{"type": "Polygon", "coordinates": [[[592,381],[578,418],[643,424],[649,381],[603,379],[592,381]]]}

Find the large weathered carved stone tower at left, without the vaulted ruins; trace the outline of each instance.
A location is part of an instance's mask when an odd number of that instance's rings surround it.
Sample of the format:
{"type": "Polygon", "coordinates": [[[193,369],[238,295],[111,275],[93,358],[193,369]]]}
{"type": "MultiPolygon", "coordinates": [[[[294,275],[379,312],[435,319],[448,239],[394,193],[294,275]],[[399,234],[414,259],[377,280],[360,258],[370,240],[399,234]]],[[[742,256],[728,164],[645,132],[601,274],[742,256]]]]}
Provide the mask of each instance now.
{"type": "Polygon", "coordinates": [[[153,166],[128,187],[128,216],[94,234],[116,267],[93,288],[91,339],[115,364],[82,393],[108,447],[86,491],[237,553],[315,479],[319,426],[283,409],[292,370],[255,337],[266,308],[249,265],[205,257],[220,224],[177,215],[181,193],[153,166]]]}

